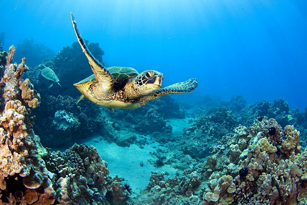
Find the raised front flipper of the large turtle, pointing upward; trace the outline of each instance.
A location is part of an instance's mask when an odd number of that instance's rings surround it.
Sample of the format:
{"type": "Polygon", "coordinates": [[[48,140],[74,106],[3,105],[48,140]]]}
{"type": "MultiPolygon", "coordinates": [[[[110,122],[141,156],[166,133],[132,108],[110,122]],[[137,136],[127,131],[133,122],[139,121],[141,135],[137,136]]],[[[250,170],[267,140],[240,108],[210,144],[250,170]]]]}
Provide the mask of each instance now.
{"type": "Polygon", "coordinates": [[[70,17],[71,17],[72,25],[74,27],[79,44],[83,52],[85,53],[85,56],[87,57],[88,63],[91,65],[92,71],[95,74],[95,78],[98,81],[103,83],[103,88],[105,89],[106,92],[110,91],[114,84],[113,75],[98,60],[95,59],[95,57],[91,54],[91,52],[87,48],[87,45],[80,34],[78,25],[75,21],[74,16],[72,15],[72,12],[70,12],[70,17]]]}

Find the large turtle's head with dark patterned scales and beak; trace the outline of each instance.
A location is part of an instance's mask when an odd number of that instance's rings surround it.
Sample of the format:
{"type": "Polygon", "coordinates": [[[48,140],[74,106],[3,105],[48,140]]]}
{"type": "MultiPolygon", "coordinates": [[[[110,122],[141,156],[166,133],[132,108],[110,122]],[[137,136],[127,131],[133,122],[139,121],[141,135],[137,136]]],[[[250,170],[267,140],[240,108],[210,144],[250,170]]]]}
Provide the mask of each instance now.
{"type": "Polygon", "coordinates": [[[140,91],[144,91],[146,94],[149,92],[147,94],[149,95],[153,94],[161,87],[163,78],[163,73],[147,70],[135,77],[134,84],[140,91]]]}

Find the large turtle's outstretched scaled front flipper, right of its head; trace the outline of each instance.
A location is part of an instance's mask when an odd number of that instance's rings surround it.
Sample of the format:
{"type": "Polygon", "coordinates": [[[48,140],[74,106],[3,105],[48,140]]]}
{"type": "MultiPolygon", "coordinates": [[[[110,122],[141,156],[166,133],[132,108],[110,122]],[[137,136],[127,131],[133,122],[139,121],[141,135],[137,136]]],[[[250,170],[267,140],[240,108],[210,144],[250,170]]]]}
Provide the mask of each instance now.
{"type": "Polygon", "coordinates": [[[168,94],[176,94],[176,93],[187,93],[192,92],[198,85],[198,81],[196,78],[188,79],[184,82],[175,83],[173,85],[160,88],[157,92],[155,92],[152,97],[153,99],[157,99],[163,95],[168,94]]]}

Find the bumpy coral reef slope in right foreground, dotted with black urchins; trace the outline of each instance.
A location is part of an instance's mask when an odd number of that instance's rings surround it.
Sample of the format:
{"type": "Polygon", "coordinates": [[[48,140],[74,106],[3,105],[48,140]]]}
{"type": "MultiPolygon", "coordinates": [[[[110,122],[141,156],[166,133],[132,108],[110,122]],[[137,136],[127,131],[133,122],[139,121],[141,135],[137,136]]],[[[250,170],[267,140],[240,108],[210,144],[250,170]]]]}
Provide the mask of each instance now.
{"type": "Polygon", "coordinates": [[[300,132],[259,119],[223,136],[183,176],[152,173],[147,189],[128,204],[305,204],[307,149],[301,151],[300,132]]]}

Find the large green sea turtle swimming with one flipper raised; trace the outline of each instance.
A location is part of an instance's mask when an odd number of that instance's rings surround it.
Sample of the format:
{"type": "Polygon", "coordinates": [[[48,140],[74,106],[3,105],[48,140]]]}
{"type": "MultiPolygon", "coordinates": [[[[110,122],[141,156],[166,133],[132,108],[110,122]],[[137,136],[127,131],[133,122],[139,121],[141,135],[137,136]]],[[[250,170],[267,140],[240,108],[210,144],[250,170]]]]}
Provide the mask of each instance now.
{"type": "Polygon", "coordinates": [[[109,107],[113,112],[113,108],[135,109],[162,95],[191,92],[197,87],[195,78],[161,88],[164,75],[160,72],[146,70],[138,73],[134,68],[105,68],[88,50],[72,13],[70,17],[77,39],[94,73],[74,84],[82,94],[77,103],[86,97],[93,103],[109,107]]]}

